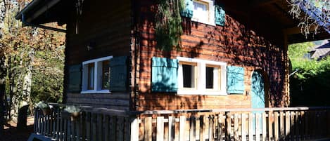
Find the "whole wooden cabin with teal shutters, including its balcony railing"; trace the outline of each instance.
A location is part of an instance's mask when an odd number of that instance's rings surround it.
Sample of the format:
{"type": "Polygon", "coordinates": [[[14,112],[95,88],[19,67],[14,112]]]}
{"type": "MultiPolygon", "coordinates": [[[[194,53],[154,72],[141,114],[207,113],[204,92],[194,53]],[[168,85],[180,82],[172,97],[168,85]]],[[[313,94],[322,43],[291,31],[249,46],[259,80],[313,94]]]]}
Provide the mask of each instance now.
{"type": "Polygon", "coordinates": [[[288,43],[326,39],[328,32],[306,39],[286,1],[184,4],[180,48],[170,50],[157,43],[156,1],[27,5],[16,16],[25,25],[66,32],[64,104],[94,107],[84,109],[80,121],[63,119],[61,108],[48,116],[37,110],[34,135],[56,140],[329,137],[329,108],[265,108],[289,106],[288,43]],[[66,29],[47,27],[48,22],[66,29]]]}

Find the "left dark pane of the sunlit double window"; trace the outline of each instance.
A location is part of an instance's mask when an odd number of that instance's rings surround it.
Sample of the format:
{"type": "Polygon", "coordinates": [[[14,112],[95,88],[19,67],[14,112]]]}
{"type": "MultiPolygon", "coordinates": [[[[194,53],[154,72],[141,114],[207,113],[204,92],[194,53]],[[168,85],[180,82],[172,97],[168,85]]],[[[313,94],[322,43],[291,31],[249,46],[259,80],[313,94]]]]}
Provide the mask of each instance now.
{"type": "Polygon", "coordinates": [[[194,88],[195,87],[195,72],[192,65],[182,65],[182,72],[184,78],[184,88],[194,88]]]}

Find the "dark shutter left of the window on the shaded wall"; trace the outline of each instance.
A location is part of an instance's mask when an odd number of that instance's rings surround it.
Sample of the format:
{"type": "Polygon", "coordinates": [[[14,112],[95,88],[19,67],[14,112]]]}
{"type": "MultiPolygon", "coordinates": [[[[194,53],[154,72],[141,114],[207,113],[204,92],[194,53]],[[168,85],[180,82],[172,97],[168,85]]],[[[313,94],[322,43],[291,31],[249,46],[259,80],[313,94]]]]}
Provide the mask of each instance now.
{"type": "Polygon", "coordinates": [[[69,69],[69,80],[68,80],[68,92],[69,93],[80,93],[82,90],[82,65],[70,65],[69,69]]]}

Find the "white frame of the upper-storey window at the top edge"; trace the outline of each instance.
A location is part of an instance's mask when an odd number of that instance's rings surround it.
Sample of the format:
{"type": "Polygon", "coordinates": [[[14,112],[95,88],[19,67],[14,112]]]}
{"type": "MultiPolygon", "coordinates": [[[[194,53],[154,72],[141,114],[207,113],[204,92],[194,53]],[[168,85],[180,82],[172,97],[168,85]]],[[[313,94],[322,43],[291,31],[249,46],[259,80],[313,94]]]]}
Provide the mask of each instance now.
{"type": "MultiPolygon", "coordinates": [[[[215,2],[214,0],[193,0],[193,1],[198,1],[200,3],[207,3],[208,4],[208,20],[198,20],[198,18],[194,17],[196,16],[195,11],[193,11],[193,17],[191,18],[192,21],[195,22],[201,22],[207,25],[213,25],[215,26],[215,2]]],[[[195,6],[193,6],[195,9],[195,6]]]]}

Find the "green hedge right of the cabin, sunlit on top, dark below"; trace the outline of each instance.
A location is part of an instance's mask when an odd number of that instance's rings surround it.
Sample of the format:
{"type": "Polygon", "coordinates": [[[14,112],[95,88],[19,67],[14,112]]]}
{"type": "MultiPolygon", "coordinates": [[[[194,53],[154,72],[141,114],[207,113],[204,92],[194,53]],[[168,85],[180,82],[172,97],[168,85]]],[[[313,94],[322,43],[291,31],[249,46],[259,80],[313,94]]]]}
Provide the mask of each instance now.
{"type": "Polygon", "coordinates": [[[288,48],[293,70],[290,77],[291,106],[330,106],[330,58],[304,58],[312,43],[296,43],[288,48]]]}

